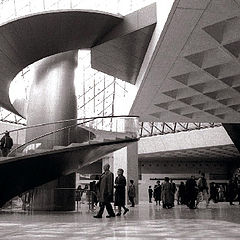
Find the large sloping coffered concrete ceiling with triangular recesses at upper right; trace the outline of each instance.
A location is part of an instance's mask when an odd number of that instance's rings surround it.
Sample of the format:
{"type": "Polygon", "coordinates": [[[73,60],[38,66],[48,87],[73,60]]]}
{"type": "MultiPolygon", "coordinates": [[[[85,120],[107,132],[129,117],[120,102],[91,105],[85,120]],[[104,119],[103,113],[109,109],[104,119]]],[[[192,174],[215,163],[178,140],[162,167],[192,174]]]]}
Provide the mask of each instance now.
{"type": "Polygon", "coordinates": [[[240,1],[176,0],[159,35],[158,25],[130,113],[141,121],[239,122],[240,1]]]}

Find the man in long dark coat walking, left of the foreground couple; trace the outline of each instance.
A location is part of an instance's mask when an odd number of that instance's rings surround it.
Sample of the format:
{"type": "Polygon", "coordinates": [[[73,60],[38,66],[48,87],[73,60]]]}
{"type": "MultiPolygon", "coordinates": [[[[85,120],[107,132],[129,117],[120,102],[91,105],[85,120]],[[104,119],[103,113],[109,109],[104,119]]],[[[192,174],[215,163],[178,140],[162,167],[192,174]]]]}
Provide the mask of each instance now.
{"type": "Polygon", "coordinates": [[[104,173],[101,175],[100,180],[97,184],[99,187],[99,205],[100,209],[95,218],[102,218],[102,214],[104,212],[104,208],[106,206],[108,215],[107,218],[115,217],[115,213],[113,212],[111,202],[113,201],[113,173],[110,172],[110,165],[105,164],[104,173]]]}

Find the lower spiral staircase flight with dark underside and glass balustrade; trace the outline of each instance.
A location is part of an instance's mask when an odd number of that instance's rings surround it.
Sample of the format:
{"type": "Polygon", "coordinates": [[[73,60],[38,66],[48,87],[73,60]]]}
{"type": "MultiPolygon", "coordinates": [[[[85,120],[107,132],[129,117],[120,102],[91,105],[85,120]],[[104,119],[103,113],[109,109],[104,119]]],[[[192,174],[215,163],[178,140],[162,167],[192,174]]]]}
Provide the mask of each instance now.
{"type": "MultiPolygon", "coordinates": [[[[66,123],[67,121],[39,124],[14,131],[19,132],[46,125],[66,123]]],[[[77,124],[45,133],[22,145],[15,144],[16,147],[9,153],[8,157],[0,158],[0,206],[19,194],[58,177],[76,172],[104,155],[137,141],[137,126],[138,118],[131,116],[96,117],[88,118],[87,121],[86,119],[78,119],[77,124]],[[107,118],[111,119],[111,126],[108,124],[104,127],[107,130],[99,130],[96,124],[93,127],[94,121],[107,118]],[[86,126],[84,124],[86,122],[90,123],[91,126],[86,126]],[[49,141],[49,137],[55,137],[54,135],[62,131],[70,133],[70,130],[71,134],[84,130],[87,137],[81,142],[72,142],[69,138],[66,146],[55,145],[51,149],[45,148],[44,142],[49,141]]],[[[103,128],[102,125],[101,128],[103,128]]]]}

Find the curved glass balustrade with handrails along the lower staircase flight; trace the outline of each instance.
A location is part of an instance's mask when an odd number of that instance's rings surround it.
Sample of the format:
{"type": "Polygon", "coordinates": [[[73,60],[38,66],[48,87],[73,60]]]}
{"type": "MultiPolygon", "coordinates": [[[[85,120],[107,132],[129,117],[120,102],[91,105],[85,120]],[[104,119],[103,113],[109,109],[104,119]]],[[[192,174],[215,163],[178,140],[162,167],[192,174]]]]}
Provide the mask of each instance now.
{"type": "MultiPolygon", "coordinates": [[[[8,157],[20,157],[29,154],[75,147],[102,142],[118,142],[139,138],[139,122],[137,116],[100,116],[77,118],[42,123],[9,131],[19,136],[21,131],[37,128],[38,135],[31,140],[19,144],[15,142],[14,149],[8,157]],[[48,131],[46,131],[48,129],[48,131]],[[58,134],[64,134],[64,144],[58,144],[58,134]]],[[[2,135],[4,133],[0,133],[2,135]]],[[[18,137],[15,140],[18,140],[18,137]]]]}

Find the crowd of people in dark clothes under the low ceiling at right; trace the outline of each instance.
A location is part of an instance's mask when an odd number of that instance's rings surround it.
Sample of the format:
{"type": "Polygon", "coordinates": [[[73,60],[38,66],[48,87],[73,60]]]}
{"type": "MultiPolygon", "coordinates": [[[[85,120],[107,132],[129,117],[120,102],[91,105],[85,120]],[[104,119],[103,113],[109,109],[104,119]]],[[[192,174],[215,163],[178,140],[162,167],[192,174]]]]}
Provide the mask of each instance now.
{"type": "Polygon", "coordinates": [[[215,182],[208,184],[205,174],[201,173],[198,179],[191,176],[186,183],[181,182],[177,188],[172,180],[165,177],[162,184],[159,180],[156,182],[154,189],[149,186],[148,198],[149,203],[152,202],[152,198],[156,205],[162,202],[163,208],[172,208],[175,199],[178,204],[187,205],[190,209],[197,208],[200,202],[205,202],[206,207],[210,201],[214,203],[229,201],[230,205],[234,205],[233,201],[237,200],[240,204],[240,179],[236,175],[226,185],[215,182]]]}

